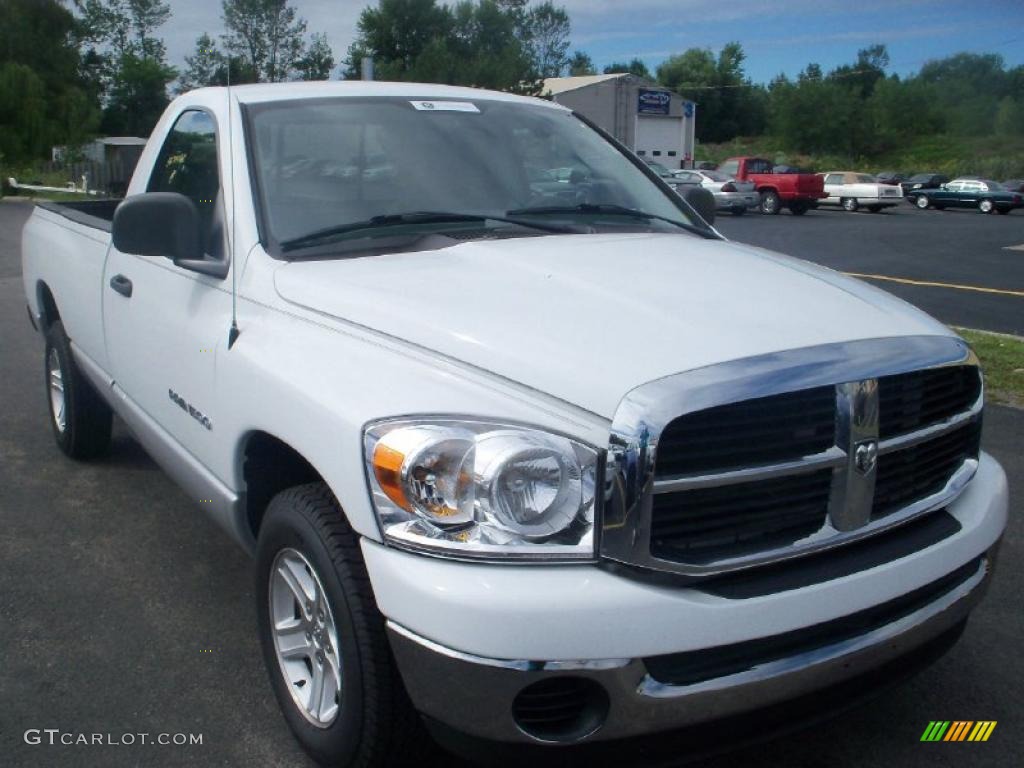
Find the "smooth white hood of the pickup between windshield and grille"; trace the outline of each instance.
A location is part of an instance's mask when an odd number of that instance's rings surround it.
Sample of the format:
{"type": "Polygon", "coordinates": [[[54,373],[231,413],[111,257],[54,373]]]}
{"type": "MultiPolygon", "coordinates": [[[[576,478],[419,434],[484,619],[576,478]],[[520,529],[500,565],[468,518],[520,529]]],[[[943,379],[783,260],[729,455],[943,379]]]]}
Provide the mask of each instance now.
{"type": "Polygon", "coordinates": [[[685,234],[472,241],[296,261],[287,302],[457,358],[610,418],[681,371],[839,341],[949,335],[839,272],[685,234]]]}

